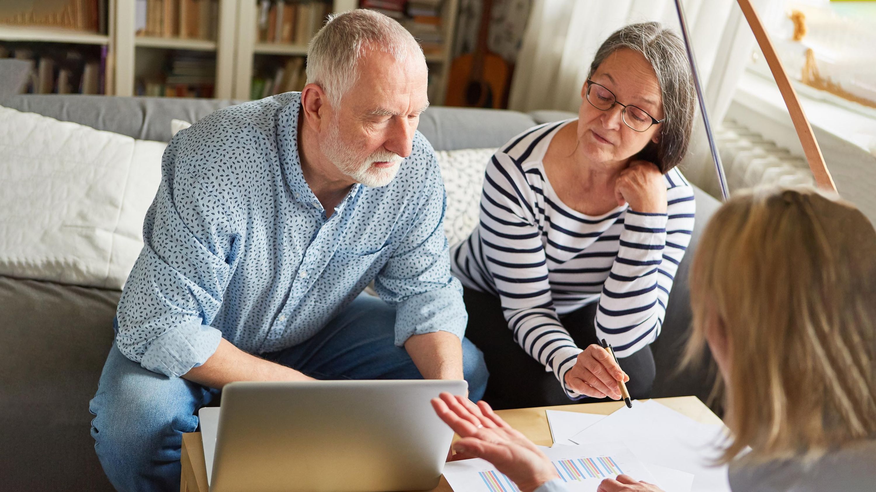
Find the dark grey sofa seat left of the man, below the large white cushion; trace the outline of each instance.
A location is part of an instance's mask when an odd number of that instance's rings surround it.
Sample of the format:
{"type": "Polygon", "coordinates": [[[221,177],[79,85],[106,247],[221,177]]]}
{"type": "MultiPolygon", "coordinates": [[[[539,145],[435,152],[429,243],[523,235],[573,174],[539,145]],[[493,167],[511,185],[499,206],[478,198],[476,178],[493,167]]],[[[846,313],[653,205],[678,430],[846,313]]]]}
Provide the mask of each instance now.
{"type": "Polygon", "coordinates": [[[112,490],[88,400],[119,295],[0,276],[0,489],[112,490]]]}

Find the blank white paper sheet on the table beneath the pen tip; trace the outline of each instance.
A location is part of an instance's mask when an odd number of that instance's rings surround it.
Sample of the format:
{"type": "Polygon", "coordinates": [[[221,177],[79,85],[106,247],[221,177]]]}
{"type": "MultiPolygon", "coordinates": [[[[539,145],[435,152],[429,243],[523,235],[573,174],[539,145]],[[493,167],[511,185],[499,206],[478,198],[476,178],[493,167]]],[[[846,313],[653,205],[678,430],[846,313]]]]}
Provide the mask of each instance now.
{"type": "Polygon", "coordinates": [[[620,440],[640,461],[693,474],[693,492],[727,492],[727,467],[711,465],[723,430],[649,400],[621,408],[571,440],[579,444],[620,440]]]}

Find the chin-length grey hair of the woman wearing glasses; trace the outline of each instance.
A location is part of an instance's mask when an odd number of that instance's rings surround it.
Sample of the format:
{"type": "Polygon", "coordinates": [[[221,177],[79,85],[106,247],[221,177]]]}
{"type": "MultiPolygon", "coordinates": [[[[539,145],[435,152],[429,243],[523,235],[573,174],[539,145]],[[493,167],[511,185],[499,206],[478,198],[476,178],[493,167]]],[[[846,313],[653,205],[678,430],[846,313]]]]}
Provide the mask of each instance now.
{"type": "Polygon", "coordinates": [[[621,48],[642,53],[657,74],[663,99],[664,121],[660,142],[648,142],[637,158],[657,164],[663,174],[682,162],[688,151],[696,114],[696,91],[684,41],[659,22],[630,24],[614,31],[599,46],[590,74],[621,48]]]}

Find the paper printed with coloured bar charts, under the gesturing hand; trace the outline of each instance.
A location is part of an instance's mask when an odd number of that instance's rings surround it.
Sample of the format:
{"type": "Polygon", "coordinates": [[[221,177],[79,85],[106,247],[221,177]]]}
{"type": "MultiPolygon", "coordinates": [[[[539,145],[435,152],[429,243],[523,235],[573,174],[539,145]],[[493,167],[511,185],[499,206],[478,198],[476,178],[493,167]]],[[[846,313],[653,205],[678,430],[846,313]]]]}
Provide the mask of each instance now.
{"type": "MultiPolygon", "coordinates": [[[[654,482],[653,476],[623,444],[555,446],[543,451],[569,492],[596,492],[600,482],[620,474],[654,482]]],[[[519,492],[508,477],[479,459],[447,463],[444,478],[454,492],[519,492]]]]}

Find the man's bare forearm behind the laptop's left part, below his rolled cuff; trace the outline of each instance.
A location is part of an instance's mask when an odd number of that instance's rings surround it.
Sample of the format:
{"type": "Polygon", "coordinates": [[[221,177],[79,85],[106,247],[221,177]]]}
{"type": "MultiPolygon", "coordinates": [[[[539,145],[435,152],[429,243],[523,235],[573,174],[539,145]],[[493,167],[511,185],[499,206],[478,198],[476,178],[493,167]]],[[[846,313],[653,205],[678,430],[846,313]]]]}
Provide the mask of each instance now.
{"type": "Polygon", "coordinates": [[[222,388],[234,381],[314,381],[285,365],[248,354],[224,338],[207,362],[182,377],[209,388],[222,388]]]}

